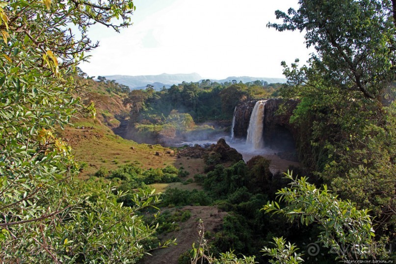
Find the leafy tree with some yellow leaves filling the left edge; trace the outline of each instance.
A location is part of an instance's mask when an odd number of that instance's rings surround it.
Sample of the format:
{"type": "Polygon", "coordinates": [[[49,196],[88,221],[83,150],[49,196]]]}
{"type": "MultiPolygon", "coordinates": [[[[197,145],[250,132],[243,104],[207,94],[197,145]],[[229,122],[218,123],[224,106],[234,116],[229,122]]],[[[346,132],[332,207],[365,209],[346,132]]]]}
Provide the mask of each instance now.
{"type": "MultiPolygon", "coordinates": [[[[2,261],[59,263],[83,254],[81,240],[55,235],[72,232],[83,217],[101,217],[104,209],[87,206],[86,199],[93,195],[87,186],[74,192],[72,176],[79,164],[71,148],[56,136],[54,126],[63,128],[76,109],[83,107],[70,91],[76,87],[76,66],[98,45],[87,36],[89,26],[99,23],[118,31],[130,25],[133,10],[132,0],[0,2],[2,261]],[[75,31],[70,25],[76,26],[75,31]]],[[[112,206],[110,214],[125,212],[120,205],[112,206]]],[[[135,221],[134,215],[128,217],[135,221]]],[[[87,230],[81,229],[78,235],[87,230]]],[[[92,248],[103,253],[101,247],[92,248]]],[[[108,247],[105,255],[115,253],[112,250],[117,247],[108,247]]],[[[127,251],[130,261],[138,256],[136,251],[127,251]]],[[[91,260],[96,262],[100,256],[91,260]]],[[[128,258],[116,262],[128,262],[128,258]]]]}

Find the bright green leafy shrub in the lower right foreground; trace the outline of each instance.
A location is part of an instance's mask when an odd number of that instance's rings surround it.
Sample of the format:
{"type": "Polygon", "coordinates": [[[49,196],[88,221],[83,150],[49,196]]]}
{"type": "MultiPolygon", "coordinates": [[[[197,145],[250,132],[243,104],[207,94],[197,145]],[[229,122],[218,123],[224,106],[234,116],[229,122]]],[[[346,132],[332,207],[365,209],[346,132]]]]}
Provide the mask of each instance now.
{"type": "MultiPolygon", "coordinates": [[[[306,177],[293,179],[292,174],[285,174],[291,181],[290,188],[279,190],[279,202],[286,206],[280,208],[277,202],[267,202],[265,212],[285,215],[290,222],[300,220],[301,224],[318,223],[322,232],[319,243],[338,255],[341,260],[359,260],[375,256],[372,247],[374,230],[369,210],[357,210],[350,201],[343,201],[333,195],[326,185],[318,189],[307,182],[306,177]]],[[[276,241],[276,239],[275,239],[276,241]]],[[[271,250],[264,249],[271,253],[271,250]]]]}

